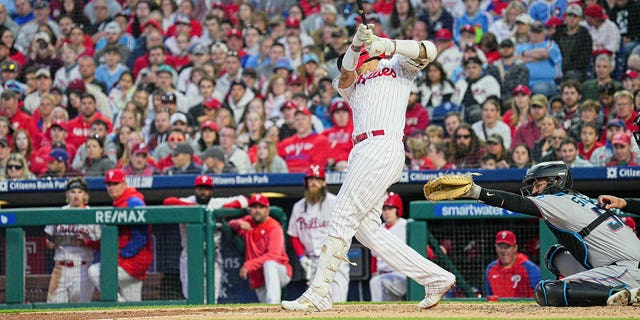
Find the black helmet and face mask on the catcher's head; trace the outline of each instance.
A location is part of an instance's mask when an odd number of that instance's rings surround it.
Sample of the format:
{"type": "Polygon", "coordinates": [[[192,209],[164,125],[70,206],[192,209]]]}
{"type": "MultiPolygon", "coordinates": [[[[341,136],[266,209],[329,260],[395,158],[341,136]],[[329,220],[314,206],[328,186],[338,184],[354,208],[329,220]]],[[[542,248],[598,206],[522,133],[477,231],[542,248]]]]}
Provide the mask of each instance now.
{"type": "Polygon", "coordinates": [[[539,163],[527,170],[527,174],[522,180],[522,188],[520,193],[523,196],[539,195],[539,194],[554,194],[563,191],[573,191],[573,178],[571,177],[571,171],[567,165],[562,161],[549,161],[539,163]],[[533,183],[540,178],[547,178],[549,182],[547,186],[541,192],[532,194],[533,183]]]}

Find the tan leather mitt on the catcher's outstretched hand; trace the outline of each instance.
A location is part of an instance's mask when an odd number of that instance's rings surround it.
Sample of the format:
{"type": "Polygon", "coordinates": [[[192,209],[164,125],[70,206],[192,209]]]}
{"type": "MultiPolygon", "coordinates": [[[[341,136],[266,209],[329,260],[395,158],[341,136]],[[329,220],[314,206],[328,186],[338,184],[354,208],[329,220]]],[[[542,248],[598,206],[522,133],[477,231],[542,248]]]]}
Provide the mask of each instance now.
{"type": "Polygon", "coordinates": [[[445,174],[424,185],[424,197],[431,201],[462,198],[473,186],[473,176],[477,173],[445,174]]]}

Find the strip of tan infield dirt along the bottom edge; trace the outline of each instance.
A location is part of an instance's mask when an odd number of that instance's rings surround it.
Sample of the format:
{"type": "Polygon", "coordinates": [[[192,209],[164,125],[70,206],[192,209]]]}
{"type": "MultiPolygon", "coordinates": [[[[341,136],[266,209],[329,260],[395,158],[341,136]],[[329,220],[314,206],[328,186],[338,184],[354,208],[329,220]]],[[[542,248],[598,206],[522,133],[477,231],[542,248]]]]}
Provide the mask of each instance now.
{"type": "Polygon", "coordinates": [[[584,319],[637,318],[638,307],[542,308],[533,303],[441,303],[430,310],[413,304],[340,304],[328,312],[290,312],[278,306],[104,309],[0,314],[2,319],[354,319],[354,318],[486,318],[584,319]]]}

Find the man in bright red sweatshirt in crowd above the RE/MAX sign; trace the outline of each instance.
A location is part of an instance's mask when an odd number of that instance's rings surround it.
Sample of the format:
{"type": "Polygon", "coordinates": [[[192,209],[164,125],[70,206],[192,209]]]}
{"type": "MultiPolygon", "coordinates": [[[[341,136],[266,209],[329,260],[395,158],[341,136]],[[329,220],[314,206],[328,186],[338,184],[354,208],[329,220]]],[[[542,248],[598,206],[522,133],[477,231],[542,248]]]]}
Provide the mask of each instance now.
{"type": "Polygon", "coordinates": [[[67,143],[80,147],[89,136],[89,128],[96,119],[101,119],[108,126],[111,132],[113,126],[111,121],[97,112],[96,98],[90,93],[83,93],[80,96],[80,114],[67,123],[67,143]]]}

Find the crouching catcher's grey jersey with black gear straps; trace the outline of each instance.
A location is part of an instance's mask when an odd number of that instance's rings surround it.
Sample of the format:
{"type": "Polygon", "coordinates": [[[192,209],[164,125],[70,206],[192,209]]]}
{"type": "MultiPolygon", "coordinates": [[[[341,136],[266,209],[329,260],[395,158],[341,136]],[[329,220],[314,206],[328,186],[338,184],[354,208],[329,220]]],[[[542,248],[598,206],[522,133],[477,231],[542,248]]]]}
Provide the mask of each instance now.
{"type": "MultiPolygon", "coordinates": [[[[549,223],[562,230],[580,232],[602,212],[596,201],[582,194],[557,194],[529,197],[549,223]]],[[[618,217],[601,223],[584,238],[592,267],[609,266],[619,261],[640,261],[640,240],[618,217]]]]}

